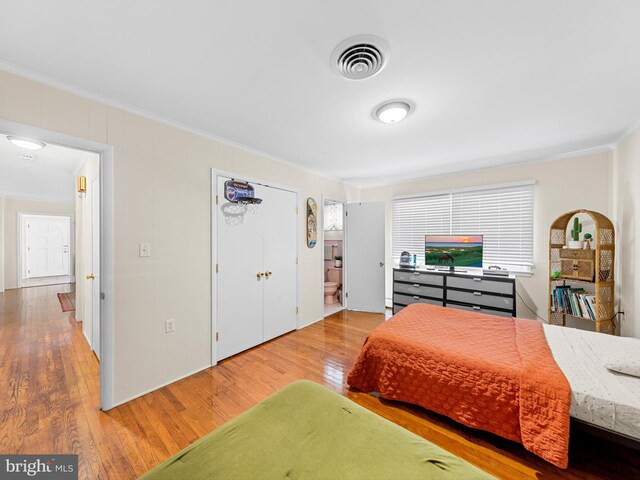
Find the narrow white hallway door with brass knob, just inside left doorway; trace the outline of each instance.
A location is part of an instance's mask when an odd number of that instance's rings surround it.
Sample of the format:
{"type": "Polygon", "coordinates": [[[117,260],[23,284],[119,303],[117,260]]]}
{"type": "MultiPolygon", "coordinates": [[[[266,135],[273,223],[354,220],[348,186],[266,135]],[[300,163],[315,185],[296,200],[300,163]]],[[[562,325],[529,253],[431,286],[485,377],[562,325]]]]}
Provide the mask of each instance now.
{"type": "Polygon", "coordinates": [[[100,179],[91,182],[91,346],[100,358],[100,179]]]}

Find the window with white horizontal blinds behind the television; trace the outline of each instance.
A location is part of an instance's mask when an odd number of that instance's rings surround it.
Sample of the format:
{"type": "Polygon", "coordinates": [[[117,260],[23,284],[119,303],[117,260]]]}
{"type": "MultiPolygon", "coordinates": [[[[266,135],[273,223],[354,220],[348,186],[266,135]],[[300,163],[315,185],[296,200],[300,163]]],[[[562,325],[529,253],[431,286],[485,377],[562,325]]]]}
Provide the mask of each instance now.
{"type": "Polygon", "coordinates": [[[424,236],[484,236],[484,260],[512,271],[533,266],[534,183],[497,185],[393,200],[393,260],[404,250],[424,263],[424,236]]]}

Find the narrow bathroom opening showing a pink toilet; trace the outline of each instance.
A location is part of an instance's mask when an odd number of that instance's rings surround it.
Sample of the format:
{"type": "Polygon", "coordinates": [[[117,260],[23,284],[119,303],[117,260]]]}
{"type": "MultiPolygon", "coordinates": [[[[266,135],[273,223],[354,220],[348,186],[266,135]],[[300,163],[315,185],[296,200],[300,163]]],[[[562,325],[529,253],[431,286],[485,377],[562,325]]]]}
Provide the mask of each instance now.
{"type": "Polygon", "coordinates": [[[328,317],[346,308],[346,275],[344,274],[346,215],[344,202],[323,197],[322,207],[323,308],[324,316],[328,317]]]}

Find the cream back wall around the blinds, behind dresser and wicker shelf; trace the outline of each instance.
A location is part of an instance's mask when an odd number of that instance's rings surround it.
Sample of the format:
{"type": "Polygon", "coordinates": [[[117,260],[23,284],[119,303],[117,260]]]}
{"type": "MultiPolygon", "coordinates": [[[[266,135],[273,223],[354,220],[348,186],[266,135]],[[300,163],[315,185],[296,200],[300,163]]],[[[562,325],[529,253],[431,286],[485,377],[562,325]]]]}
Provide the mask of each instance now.
{"type": "MultiPolygon", "coordinates": [[[[534,204],[534,274],[517,279],[517,292],[540,317],[547,318],[549,226],[558,216],[586,208],[610,216],[611,155],[601,153],[512,167],[487,169],[449,175],[386,187],[363,189],[361,201],[386,202],[387,282],[386,296],[392,293],[391,199],[394,196],[420,194],[448,189],[535,180],[534,204]]],[[[536,318],[522,300],[517,301],[519,317],[536,318]]],[[[577,320],[575,326],[591,329],[593,324],[577,320]]]]}

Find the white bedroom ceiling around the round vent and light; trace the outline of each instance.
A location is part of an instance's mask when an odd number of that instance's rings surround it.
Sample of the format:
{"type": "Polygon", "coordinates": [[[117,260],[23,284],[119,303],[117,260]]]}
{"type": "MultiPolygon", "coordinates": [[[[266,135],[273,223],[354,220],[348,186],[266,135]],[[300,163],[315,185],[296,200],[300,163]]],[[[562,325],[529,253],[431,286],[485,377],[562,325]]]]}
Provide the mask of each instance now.
{"type": "Polygon", "coordinates": [[[640,117],[639,18],[636,0],[5,0],[0,61],[373,185],[611,143],[640,117]],[[333,48],[362,33],[387,67],[338,77],[333,48]],[[395,98],[415,111],[375,121],[395,98]]]}

